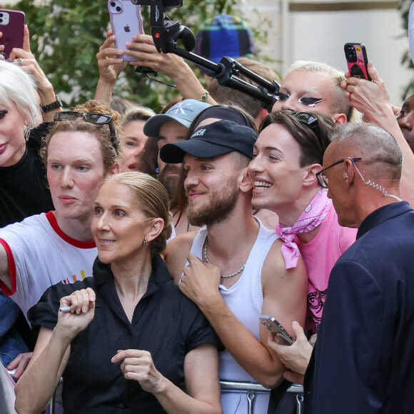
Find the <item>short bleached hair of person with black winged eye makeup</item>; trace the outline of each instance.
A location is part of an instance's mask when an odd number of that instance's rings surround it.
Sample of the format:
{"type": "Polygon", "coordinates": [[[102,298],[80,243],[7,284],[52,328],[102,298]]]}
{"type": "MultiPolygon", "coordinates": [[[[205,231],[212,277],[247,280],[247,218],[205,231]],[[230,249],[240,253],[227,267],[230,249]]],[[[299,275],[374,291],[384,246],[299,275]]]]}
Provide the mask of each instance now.
{"type": "Polygon", "coordinates": [[[315,61],[296,61],[290,67],[289,73],[293,71],[320,72],[328,75],[335,86],[334,104],[330,108],[330,113],[345,113],[348,122],[360,121],[361,114],[355,108],[349,106],[349,100],[345,98],[344,90],[340,86],[340,83],[346,79],[343,71],[315,61]]]}

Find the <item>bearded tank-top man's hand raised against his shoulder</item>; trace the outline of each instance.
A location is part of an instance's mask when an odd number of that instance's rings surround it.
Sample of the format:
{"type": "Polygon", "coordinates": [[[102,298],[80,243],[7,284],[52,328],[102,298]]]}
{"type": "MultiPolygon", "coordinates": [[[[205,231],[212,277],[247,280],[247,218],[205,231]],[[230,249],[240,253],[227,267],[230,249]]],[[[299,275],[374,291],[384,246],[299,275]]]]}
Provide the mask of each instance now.
{"type": "Polygon", "coordinates": [[[210,306],[217,298],[221,298],[218,291],[221,280],[220,269],[211,263],[203,263],[192,253],[187,256],[187,261],[190,264],[184,268],[178,287],[200,308],[210,306]]]}

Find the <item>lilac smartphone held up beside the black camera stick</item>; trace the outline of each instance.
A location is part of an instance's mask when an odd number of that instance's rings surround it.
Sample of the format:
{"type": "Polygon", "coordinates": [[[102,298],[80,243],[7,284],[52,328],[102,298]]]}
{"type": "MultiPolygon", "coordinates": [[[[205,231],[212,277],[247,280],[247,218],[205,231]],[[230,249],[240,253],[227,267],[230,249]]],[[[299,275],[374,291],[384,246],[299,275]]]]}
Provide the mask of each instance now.
{"type": "MultiPolygon", "coordinates": [[[[111,27],[116,36],[115,47],[126,49],[126,42],[132,41],[135,34],[143,34],[141,5],[133,4],[131,0],[109,0],[108,11],[111,18],[111,27]]],[[[123,54],[124,61],[136,61],[133,56],[123,54]]]]}

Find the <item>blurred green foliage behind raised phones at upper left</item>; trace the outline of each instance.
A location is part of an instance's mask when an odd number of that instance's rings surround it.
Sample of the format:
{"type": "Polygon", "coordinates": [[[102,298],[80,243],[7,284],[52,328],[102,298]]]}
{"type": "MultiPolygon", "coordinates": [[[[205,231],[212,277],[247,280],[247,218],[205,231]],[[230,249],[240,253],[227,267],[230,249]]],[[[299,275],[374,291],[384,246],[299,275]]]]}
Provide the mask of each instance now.
{"type": "MultiPolygon", "coordinates": [[[[238,0],[183,0],[179,9],[170,9],[166,15],[180,21],[196,34],[206,19],[216,14],[237,14],[233,8],[238,0]]],[[[21,0],[13,9],[24,11],[31,35],[31,51],[54,85],[56,92],[71,94],[66,106],[84,102],[94,96],[99,78],[95,55],[109,28],[107,1],[91,0],[21,0]]],[[[149,6],[141,6],[146,33],[149,26],[149,6]]],[[[133,66],[118,79],[114,94],[139,104],[160,110],[177,94],[175,89],[151,82],[136,74],[133,66]]],[[[163,79],[163,76],[159,76],[163,79]]]]}

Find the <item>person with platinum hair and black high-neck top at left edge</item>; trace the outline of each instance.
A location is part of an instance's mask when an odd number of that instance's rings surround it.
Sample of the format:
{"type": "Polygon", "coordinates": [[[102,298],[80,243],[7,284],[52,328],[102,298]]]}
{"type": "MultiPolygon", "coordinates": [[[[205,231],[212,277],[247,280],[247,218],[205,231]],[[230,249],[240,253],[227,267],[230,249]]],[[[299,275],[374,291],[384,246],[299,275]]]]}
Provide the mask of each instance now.
{"type": "Polygon", "coordinates": [[[41,122],[35,86],[18,65],[0,59],[0,227],[53,209],[41,134],[31,135],[41,122]]]}

